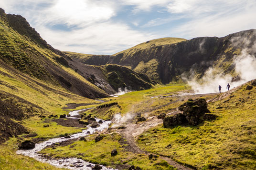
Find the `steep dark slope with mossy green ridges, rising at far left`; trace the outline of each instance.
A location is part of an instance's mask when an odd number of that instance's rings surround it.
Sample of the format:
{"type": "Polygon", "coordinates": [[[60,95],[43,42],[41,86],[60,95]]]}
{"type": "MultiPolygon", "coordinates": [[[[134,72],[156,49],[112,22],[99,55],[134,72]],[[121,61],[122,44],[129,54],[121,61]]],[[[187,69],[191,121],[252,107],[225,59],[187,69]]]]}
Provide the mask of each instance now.
{"type": "Polygon", "coordinates": [[[1,9],[0,30],[1,63],[84,97],[107,97],[76,73],[69,65],[72,59],[48,45],[20,15],[5,14],[1,9]]]}

